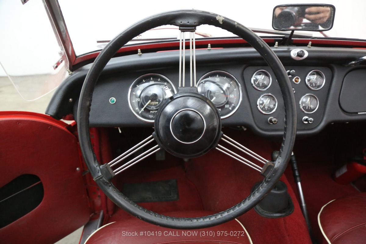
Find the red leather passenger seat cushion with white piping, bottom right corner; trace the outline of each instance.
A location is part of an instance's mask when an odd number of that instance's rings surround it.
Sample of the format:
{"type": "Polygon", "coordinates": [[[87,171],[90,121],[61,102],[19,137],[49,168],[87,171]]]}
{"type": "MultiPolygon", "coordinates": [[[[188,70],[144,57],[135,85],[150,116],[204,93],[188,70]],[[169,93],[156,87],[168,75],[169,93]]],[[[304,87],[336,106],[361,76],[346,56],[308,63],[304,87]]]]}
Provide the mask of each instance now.
{"type": "Polygon", "coordinates": [[[366,242],[366,193],[334,200],[319,213],[319,226],[332,244],[366,242]]]}

